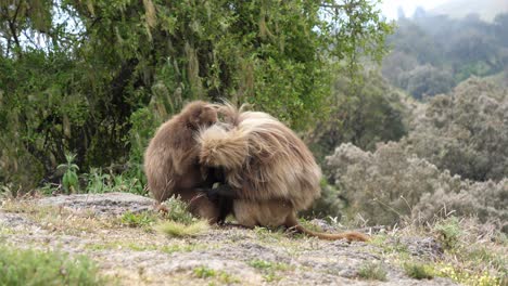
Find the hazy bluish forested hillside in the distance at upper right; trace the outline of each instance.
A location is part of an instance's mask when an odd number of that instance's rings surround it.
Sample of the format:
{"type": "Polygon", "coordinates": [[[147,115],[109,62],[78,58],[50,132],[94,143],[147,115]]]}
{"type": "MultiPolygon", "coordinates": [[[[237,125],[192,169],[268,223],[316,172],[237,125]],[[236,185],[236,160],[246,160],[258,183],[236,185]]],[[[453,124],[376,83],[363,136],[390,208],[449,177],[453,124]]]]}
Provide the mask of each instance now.
{"type": "Polygon", "coordinates": [[[421,99],[448,92],[471,76],[498,74],[508,64],[507,17],[499,14],[494,23],[424,13],[401,18],[388,39],[393,52],[383,62],[383,75],[421,99]]]}

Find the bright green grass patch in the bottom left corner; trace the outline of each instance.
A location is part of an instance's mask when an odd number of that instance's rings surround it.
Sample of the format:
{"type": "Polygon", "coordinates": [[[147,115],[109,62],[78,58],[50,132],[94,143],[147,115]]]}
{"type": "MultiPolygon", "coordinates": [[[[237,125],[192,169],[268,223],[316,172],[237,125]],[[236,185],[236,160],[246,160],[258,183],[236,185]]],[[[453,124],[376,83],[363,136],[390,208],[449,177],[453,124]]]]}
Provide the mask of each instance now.
{"type": "Polygon", "coordinates": [[[0,246],[0,285],[109,285],[86,257],[0,246]]]}

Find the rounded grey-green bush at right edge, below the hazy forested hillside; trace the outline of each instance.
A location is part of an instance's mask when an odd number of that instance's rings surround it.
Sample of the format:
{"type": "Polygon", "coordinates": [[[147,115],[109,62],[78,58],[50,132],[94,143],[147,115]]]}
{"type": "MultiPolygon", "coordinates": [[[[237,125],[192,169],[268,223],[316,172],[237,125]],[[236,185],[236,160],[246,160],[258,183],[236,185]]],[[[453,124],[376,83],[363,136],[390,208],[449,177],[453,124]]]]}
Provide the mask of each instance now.
{"type": "Polygon", "coordinates": [[[508,92],[470,79],[429,101],[406,147],[441,170],[477,181],[508,177],[508,92]]]}

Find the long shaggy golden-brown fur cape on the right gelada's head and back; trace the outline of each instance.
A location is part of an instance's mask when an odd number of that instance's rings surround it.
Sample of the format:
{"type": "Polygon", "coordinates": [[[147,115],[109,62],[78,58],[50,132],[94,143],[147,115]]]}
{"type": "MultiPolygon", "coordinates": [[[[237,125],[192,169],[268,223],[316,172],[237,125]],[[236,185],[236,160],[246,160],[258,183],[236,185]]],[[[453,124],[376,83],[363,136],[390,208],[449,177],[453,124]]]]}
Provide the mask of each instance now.
{"type": "Polygon", "coordinates": [[[230,128],[213,126],[200,132],[200,160],[224,167],[228,184],[251,200],[280,199],[295,210],[320,196],[321,170],[303,141],[266,113],[219,109],[230,128]]]}

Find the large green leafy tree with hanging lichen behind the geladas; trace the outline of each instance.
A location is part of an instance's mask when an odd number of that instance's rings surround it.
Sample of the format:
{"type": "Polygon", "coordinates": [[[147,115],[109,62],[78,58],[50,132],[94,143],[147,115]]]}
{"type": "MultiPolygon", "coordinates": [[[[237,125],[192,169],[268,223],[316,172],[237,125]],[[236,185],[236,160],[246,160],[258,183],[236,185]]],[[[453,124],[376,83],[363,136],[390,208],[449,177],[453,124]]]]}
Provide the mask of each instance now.
{"type": "Polygon", "coordinates": [[[306,128],[329,112],[331,67],[354,76],[359,58],[379,61],[392,28],[366,0],[1,9],[18,13],[0,18],[12,24],[0,26],[0,179],[24,191],[53,179],[66,151],[85,170],[128,165],[143,182],[148,139],[190,100],[249,102],[306,128]]]}

